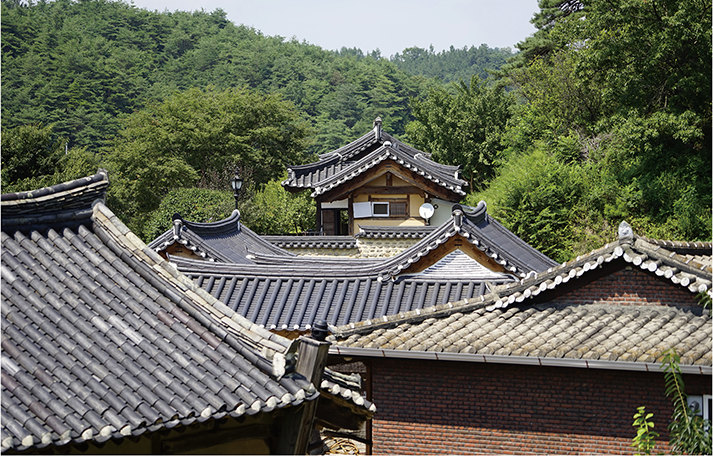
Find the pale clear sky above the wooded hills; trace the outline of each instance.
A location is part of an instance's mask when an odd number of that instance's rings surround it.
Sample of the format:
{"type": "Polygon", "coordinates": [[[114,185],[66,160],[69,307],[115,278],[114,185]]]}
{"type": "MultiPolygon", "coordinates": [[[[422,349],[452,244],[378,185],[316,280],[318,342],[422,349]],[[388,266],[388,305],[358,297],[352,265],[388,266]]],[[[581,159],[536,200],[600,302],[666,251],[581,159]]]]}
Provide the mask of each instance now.
{"type": "Polygon", "coordinates": [[[297,38],[327,50],[409,47],[436,52],[487,44],[509,47],[535,32],[537,0],[126,0],[149,11],[215,11],[264,35],[297,38]]]}

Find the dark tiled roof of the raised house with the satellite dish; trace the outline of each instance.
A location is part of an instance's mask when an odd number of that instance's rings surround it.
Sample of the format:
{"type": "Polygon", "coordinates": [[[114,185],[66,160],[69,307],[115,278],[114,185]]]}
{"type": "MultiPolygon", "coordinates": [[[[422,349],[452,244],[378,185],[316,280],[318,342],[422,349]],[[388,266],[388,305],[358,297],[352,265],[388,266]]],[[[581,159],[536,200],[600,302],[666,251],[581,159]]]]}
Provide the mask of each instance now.
{"type": "Polygon", "coordinates": [[[372,131],[346,146],[320,155],[318,162],[289,167],[288,178],[282,185],[292,189],[311,188],[314,197],[353,179],[386,159],[395,160],[435,184],[465,196],[463,187],[468,184],[458,178],[458,166],[434,162],[430,154],[384,133],[380,119],[374,122],[372,131]]]}

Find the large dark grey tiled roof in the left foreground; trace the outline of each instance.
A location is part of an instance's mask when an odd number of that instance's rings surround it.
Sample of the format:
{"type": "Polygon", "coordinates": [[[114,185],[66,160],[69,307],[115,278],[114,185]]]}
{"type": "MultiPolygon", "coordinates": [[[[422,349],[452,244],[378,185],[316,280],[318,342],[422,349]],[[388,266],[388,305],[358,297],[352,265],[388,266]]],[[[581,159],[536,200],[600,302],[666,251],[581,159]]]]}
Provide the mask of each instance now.
{"type": "Polygon", "coordinates": [[[315,399],[292,342],[224,308],[103,203],[106,174],[2,196],[2,450],[315,399]]]}

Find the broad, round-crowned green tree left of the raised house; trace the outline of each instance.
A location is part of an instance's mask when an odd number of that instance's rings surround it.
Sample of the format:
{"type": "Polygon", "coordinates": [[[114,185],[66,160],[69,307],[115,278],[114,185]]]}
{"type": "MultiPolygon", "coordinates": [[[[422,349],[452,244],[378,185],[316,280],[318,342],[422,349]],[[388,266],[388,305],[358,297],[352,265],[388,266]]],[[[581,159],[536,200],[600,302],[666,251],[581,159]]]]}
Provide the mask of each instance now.
{"type": "Polygon", "coordinates": [[[259,185],[301,163],[309,129],[289,102],[241,88],[189,89],[143,109],[108,155],[112,203],[132,229],[177,188],[229,188],[233,170],[259,185]]]}

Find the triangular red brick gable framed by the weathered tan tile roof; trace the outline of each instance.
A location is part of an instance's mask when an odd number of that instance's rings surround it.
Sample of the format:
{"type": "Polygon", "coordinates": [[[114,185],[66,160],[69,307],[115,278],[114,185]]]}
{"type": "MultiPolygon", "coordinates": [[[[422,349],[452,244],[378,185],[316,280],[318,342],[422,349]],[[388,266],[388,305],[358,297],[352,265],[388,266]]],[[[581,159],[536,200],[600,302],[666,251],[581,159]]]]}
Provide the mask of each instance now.
{"type": "Polygon", "coordinates": [[[569,285],[577,288],[552,300],[570,304],[616,303],[621,305],[697,306],[696,295],[675,285],[670,279],[627,266],[581,286],[578,279],[569,285]]]}

